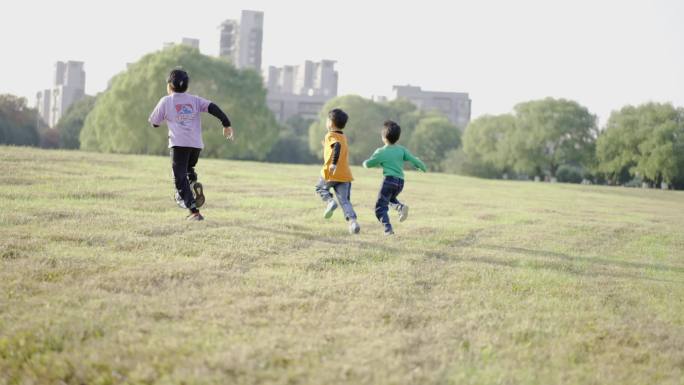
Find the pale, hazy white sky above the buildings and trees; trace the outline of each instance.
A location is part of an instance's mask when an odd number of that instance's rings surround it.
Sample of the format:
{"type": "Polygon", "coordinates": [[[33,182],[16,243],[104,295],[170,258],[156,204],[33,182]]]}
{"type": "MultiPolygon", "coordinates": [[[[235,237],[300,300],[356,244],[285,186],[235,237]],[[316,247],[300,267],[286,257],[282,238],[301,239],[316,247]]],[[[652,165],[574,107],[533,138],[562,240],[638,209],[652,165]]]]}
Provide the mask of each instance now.
{"type": "Polygon", "coordinates": [[[264,12],[264,68],[336,60],[340,95],[467,92],[473,118],[550,96],[600,124],[627,104],[684,106],[684,0],[8,1],[0,94],[34,105],[67,60],[85,62],[96,94],[183,37],[218,55],[219,24],[242,9],[264,12]]]}

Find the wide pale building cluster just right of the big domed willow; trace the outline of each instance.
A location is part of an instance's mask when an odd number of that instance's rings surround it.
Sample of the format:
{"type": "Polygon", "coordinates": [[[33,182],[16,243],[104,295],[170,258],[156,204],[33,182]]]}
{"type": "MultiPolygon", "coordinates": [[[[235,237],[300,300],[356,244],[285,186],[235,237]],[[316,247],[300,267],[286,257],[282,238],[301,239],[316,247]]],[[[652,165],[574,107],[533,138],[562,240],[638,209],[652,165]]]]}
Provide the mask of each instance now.
{"type": "Polygon", "coordinates": [[[271,66],[264,78],[266,101],[280,122],[296,115],[316,119],[323,105],[337,96],[338,73],[333,60],[271,66]]]}

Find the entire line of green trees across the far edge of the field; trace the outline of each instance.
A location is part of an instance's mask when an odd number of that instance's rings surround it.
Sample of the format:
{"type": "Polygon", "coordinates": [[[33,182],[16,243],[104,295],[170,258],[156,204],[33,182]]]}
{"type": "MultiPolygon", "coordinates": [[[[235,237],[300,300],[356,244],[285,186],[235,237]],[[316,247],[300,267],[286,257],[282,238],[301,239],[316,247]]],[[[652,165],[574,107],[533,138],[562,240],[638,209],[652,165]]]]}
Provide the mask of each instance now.
{"type": "Polygon", "coordinates": [[[382,145],[382,123],[392,119],[402,127],[399,143],[432,171],[684,188],[684,110],[671,104],[626,106],[599,129],[586,107],[546,98],[520,103],[510,114],[481,116],[467,127],[456,127],[445,115],[421,111],[407,100],[375,102],[347,95],[328,101],[317,119],[295,116],[279,124],[266,104],[259,73],[238,70],[182,45],[131,64],[110,80],[107,90],[74,103],[56,130],[42,125],[25,99],[0,95],[0,143],[165,154],[167,132],[151,127],[147,117],[165,95],[169,69],[177,66],[190,73],[189,92],[214,101],[239,122],[238,140],[228,145],[217,123],[203,119],[208,157],[317,163],[326,112],[342,108],[350,115],[345,131],[352,164],[360,164],[382,145]]]}

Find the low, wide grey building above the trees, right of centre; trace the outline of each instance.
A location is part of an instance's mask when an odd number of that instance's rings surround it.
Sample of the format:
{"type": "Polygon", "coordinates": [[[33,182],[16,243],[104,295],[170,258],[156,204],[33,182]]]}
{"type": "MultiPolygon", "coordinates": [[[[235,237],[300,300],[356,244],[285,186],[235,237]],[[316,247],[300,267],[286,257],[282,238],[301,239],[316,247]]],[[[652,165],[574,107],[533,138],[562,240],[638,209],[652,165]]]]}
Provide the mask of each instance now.
{"type": "Polygon", "coordinates": [[[408,99],[423,111],[440,111],[461,129],[470,122],[472,101],[467,93],[423,91],[415,86],[394,86],[392,90],[392,99],[408,99]]]}

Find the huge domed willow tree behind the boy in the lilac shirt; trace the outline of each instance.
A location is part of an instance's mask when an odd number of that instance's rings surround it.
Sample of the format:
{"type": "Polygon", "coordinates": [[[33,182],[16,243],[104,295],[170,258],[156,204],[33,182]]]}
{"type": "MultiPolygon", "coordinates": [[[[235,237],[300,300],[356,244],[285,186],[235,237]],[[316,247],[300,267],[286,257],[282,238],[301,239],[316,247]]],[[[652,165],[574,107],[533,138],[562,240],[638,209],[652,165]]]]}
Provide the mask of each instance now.
{"type": "Polygon", "coordinates": [[[164,154],[167,131],[150,127],[147,119],[166,94],[169,71],[182,67],[190,74],[188,92],[220,106],[231,118],[236,141],[226,142],[220,124],[202,119],[205,149],[210,157],[264,159],[278,140],[279,127],[266,105],[259,73],[177,45],[145,55],[111,81],[88,114],[81,131],[81,147],[104,152],[164,154]]]}

